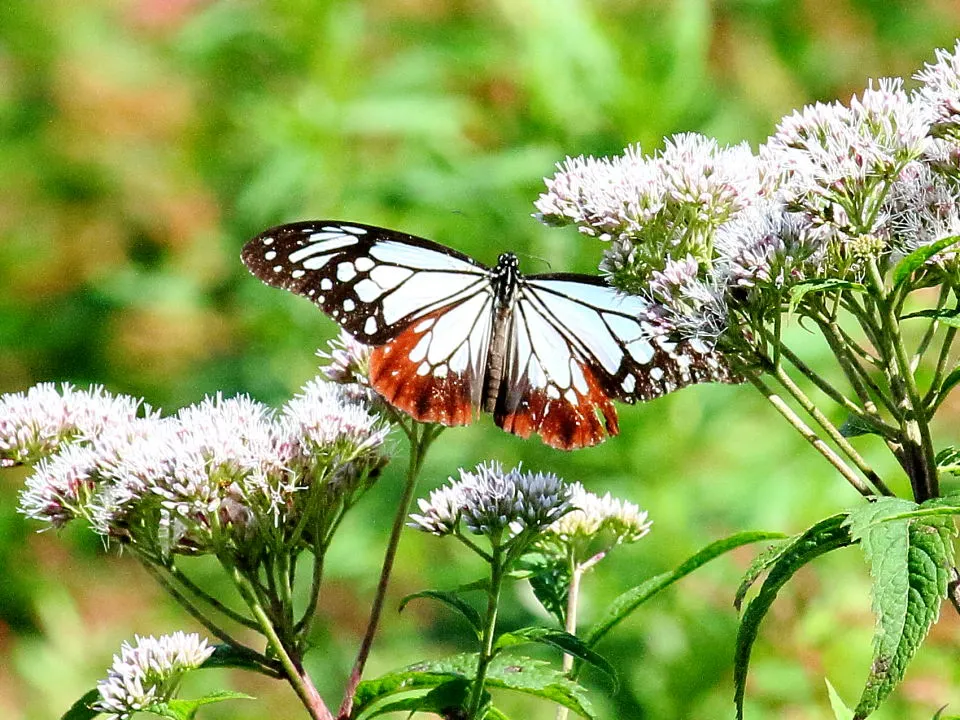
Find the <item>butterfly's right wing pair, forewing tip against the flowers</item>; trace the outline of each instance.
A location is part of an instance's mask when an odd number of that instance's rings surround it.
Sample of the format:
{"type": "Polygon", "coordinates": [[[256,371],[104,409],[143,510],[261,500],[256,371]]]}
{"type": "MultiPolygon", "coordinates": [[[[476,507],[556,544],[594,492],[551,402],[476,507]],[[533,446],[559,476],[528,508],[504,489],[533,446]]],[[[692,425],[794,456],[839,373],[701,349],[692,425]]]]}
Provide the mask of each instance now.
{"type": "Polygon", "coordinates": [[[524,278],[496,423],[562,449],[596,445],[619,432],[612,399],[650,400],[697,382],[732,380],[706,346],[658,335],[643,320],[649,309],[643,298],[589,275],[524,278]]]}

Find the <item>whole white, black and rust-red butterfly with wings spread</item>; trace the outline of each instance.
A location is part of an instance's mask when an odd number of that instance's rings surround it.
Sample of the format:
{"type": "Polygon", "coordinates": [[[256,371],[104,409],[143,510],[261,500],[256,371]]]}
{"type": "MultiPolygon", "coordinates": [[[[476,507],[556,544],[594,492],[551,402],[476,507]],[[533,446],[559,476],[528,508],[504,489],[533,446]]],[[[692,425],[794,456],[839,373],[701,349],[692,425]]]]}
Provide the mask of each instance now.
{"type": "Polygon", "coordinates": [[[655,332],[647,300],[590,275],[522,275],[512,253],[490,268],[424,238],[317,220],[261,233],[242,259],[373,346],[372,387],[423,422],[466,425],[482,409],[569,450],[619,433],[614,399],[734,381],[705,344],[655,332]]]}

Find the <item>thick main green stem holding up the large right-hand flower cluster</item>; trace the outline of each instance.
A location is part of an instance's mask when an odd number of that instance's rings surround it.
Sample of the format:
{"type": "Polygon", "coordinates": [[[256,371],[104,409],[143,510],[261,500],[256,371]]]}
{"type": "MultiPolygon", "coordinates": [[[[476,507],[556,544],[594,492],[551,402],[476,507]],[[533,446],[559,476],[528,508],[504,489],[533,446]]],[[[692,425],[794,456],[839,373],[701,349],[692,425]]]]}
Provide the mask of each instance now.
{"type": "Polygon", "coordinates": [[[910,358],[907,356],[903,336],[900,334],[900,325],[887,296],[876,259],[871,258],[867,268],[868,277],[877,296],[877,307],[883,323],[884,336],[893,349],[893,357],[896,361],[896,367],[891,368],[891,372],[894,373],[891,377],[894,381],[893,389],[896,392],[899,386],[902,390],[900,393],[901,405],[904,409],[902,443],[909,465],[906,469],[913,487],[914,500],[918,503],[924,502],[940,494],[930,425],[927,422],[916,379],[910,370],[910,358]]]}

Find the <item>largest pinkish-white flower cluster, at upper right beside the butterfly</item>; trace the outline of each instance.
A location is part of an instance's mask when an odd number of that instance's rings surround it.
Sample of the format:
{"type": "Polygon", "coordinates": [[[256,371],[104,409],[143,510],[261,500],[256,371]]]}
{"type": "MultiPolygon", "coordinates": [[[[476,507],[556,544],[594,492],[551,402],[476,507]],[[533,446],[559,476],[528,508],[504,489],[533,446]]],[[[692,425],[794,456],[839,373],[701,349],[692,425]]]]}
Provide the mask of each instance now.
{"type": "Polygon", "coordinates": [[[712,343],[734,317],[782,312],[797,283],[859,281],[865,263],[882,271],[960,230],[960,42],[917,79],[805,107],[756,154],[686,134],[653,156],[568,158],[539,217],[610,241],[610,282],[678,338],[712,343]]]}

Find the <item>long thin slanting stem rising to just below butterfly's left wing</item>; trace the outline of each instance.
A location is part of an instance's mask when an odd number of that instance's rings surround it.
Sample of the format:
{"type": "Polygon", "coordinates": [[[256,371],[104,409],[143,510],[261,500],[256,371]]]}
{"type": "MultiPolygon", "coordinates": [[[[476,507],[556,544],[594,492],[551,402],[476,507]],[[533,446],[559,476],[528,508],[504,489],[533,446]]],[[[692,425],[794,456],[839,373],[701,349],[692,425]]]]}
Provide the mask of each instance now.
{"type": "Polygon", "coordinates": [[[380,624],[380,615],[383,612],[387,586],[390,583],[390,573],[393,570],[393,562],[397,556],[397,547],[400,545],[400,535],[403,531],[407,514],[410,512],[410,504],[413,502],[414,491],[417,487],[417,478],[420,476],[420,470],[423,467],[427,449],[443,430],[441,426],[422,425],[420,423],[414,423],[410,428],[406,425],[401,425],[401,427],[403,427],[410,438],[410,462],[407,465],[407,481],[403,488],[400,503],[397,506],[397,514],[393,519],[393,528],[390,531],[390,539],[387,542],[387,552],[383,558],[383,567],[380,570],[377,592],[373,599],[373,606],[370,608],[370,619],[367,622],[367,630],[360,643],[357,659],[354,662],[353,671],[350,673],[350,679],[347,681],[347,687],[343,694],[343,701],[340,703],[340,709],[337,713],[338,718],[342,720],[349,718],[350,713],[353,712],[353,697],[356,695],[357,686],[360,684],[360,678],[363,676],[363,668],[367,664],[370,648],[373,645],[373,638],[380,624]],[[419,432],[417,431],[418,428],[420,429],[419,432]]]}

